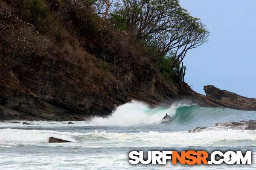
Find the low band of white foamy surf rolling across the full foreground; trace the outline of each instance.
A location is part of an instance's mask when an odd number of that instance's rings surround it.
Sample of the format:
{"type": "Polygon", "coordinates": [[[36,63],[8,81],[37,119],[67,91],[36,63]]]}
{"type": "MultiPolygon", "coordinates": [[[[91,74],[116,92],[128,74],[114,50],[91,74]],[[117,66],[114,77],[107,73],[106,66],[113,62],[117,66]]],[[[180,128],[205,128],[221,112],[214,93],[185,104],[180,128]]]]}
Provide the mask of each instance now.
{"type": "Polygon", "coordinates": [[[139,132],[69,133],[52,130],[0,129],[0,144],[47,143],[49,137],[69,140],[81,147],[173,147],[173,146],[256,146],[256,131],[213,129],[200,133],[139,132]],[[245,142],[245,143],[244,143],[245,142]]]}

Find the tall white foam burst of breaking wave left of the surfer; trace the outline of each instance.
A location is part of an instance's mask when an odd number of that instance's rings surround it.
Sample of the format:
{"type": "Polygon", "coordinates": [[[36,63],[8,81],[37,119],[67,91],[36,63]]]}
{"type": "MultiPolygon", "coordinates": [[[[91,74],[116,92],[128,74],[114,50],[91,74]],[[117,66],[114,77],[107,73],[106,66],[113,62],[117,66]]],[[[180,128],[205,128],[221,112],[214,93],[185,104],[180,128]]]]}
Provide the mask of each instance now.
{"type": "Polygon", "coordinates": [[[171,118],[176,115],[177,109],[189,107],[185,103],[179,102],[172,104],[169,108],[151,109],[143,102],[131,101],[117,107],[111,116],[107,118],[94,117],[91,119],[93,125],[146,125],[161,123],[163,116],[167,113],[171,118]]]}

